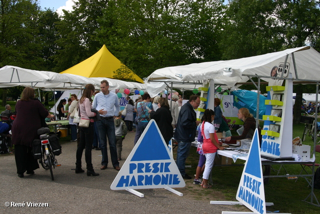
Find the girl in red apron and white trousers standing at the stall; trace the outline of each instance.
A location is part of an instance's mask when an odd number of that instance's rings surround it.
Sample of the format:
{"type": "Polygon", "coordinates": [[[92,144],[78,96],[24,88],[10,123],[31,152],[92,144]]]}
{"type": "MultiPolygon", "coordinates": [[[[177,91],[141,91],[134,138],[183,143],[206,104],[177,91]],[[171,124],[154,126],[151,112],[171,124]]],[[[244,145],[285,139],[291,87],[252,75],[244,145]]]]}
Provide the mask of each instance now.
{"type": "Polygon", "coordinates": [[[213,166],[216,150],[223,150],[224,147],[219,145],[218,137],[214,133],[214,126],[211,123],[214,119],[214,111],[212,109],[205,109],[203,117],[203,122],[201,124],[201,135],[203,137],[202,151],[206,160],[202,177],[203,180],[200,185],[203,188],[210,188],[211,186],[208,185],[208,179],[213,166]]]}

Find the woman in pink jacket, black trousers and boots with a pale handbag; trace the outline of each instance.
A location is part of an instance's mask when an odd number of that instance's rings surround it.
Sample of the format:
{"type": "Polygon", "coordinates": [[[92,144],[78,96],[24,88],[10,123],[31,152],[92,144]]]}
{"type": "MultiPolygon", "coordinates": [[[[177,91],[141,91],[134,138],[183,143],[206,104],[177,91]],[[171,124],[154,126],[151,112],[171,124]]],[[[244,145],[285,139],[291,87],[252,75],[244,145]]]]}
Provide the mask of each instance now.
{"type": "MultiPolygon", "coordinates": [[[[75,173],[84,172],[84,170],[81,168],[81,158],[82,158],[83,149],[85,148],[84,156],[85,156],[85,162],[86,162],[87,176],[99,175],[98,173],[94,172],[92,162],[91,162],[94,120],[90,119],[89,117],[95,116],[95,113],[91,112],[91,108],[92,108],[91,97],[93,93],[94,93],[94,86],[92,84],[85,85],[82,97],[78,102],[79,114],[80,114],[80,122],[79,122],[80,142],[76,149],[75,173]]],[[[103,114],[103,109],[99,110],[99,114],[103,114]]]]}

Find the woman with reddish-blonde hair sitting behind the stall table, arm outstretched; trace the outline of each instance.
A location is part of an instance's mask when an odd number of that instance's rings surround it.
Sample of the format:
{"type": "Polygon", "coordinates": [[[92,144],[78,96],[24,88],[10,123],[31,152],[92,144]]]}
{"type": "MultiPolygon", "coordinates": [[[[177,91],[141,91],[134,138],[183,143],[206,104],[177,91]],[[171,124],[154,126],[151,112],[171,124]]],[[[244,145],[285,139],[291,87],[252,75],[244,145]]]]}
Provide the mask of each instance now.
{"type": "MultiPolygon", "coordinates": [[[[255,130],[255,119],[253,117],[252,114],[250,114],[249,110],[247,108],[240,108],[238,110],[238,114],[237,114],[238,118],[240,120],[242,120],[243,123],[243,132],[241,135],[239,136],[230,136],[230,137],[226,137],[225,141],[230,141],[230,140],[242,140],[245,138],[252,138],[253,134],[254,134],[254,130],[255,130]]],[[[259,133],[259,140],[260,140],[260,144],[261,144],[261,130],[258,127],[258,133],[259,133]]]]}

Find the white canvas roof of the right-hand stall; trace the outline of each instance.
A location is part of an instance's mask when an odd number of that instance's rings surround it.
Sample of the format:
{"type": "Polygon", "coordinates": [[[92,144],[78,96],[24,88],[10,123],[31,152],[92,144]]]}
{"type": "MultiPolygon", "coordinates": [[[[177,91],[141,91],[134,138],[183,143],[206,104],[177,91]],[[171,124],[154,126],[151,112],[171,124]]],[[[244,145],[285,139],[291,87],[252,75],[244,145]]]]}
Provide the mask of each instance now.
{"type": "MultiPolygon", "coordinates": [[[[288,57],[287,65],[293,80],[320,81],[320,76],[317,75],[320,73],[320,54],[311,47],[300,47],[235,60],[161,68],[149,75],[145,82],[149,83],[148,92],[153,90],[156,93],[160,90],[159,84],[152,84],[152,81],[185,83],[213,79],[215,84],[228,87],[249,80],[245,75],[260,76],[262,80],[268,81],[272,68],[274,66],[280,68],[286,57],[288,57]],[[296,73],[293,62],[295,62],[296,73]]],[[[162,84],[162,87],[164,89],[166,85],[162,84]]]]}

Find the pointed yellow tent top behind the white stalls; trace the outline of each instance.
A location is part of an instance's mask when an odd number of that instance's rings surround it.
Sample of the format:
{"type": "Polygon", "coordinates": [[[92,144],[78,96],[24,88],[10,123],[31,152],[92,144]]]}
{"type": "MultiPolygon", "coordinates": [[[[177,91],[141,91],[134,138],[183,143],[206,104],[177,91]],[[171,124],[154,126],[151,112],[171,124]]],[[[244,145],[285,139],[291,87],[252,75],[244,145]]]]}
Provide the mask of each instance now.
{"type": "Polygon", "coordinates": [[[143,80],[114,57],[105,45],[88,59],[60,72],[60,74],[75,74],[83,77],[106,77],[118,80],[130,79],[143,83],[143,80]]]}

